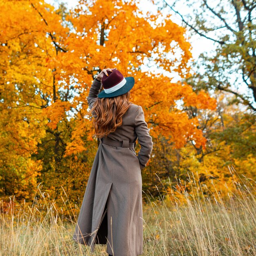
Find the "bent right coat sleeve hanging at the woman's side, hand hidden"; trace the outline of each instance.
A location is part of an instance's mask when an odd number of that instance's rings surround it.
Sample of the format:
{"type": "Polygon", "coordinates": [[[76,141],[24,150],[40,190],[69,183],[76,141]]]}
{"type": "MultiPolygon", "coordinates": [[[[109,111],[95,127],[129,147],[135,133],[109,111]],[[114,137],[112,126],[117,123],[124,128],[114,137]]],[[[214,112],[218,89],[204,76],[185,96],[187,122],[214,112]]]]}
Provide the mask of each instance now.
{"type": "Polygon", "coordinates": [[[141,146],[138,158],[140,168],[146,167],[148,160],[153,149],[152,137],[149,135],[148,125],[145,121],[144,112],[141,106],[139,106],[135,112],[134,117],[135,133],[138,137],[138,142],[141,146]]]}

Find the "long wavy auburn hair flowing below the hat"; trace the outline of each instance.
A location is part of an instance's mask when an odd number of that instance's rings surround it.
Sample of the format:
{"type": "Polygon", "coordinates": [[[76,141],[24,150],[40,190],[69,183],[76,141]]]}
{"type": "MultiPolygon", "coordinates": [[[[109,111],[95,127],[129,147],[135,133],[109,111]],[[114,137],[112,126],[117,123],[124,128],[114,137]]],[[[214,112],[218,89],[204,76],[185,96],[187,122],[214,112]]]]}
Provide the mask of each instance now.
{"type": "Polygon", "coordinates": [[[87,112],[88,115],[92,114],[94,116],[95,133],[92,136],[106,137],[122,125],[122,117],[132,104],[129,98],[130,91],[116,97],[97,98],[94,101],[92,109],[87,112]]]}

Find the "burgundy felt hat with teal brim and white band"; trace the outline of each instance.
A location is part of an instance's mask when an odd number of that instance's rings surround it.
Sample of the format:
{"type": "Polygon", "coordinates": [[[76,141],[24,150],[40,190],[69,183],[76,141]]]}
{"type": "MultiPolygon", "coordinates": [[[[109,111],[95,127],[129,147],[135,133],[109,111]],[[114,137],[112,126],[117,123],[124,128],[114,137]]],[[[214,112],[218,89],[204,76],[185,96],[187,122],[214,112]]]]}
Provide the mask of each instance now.
{"type": "Polygon", "coordinates": [[[132,76],[124,77],[123,74],[117,70],[112,69],[112,72],[107,70],[108,76],[103,74],[101,79],[103,91],[98,94],[99,98],[110,98],[129,92],[135,79],[132,76]]]}

